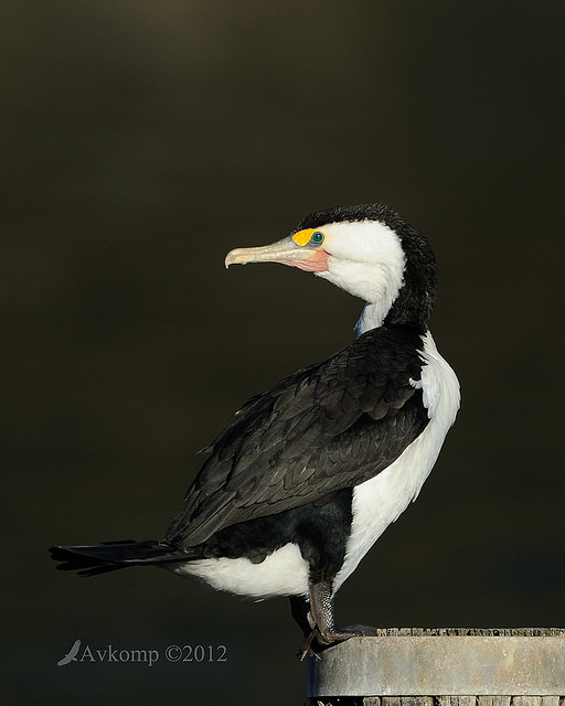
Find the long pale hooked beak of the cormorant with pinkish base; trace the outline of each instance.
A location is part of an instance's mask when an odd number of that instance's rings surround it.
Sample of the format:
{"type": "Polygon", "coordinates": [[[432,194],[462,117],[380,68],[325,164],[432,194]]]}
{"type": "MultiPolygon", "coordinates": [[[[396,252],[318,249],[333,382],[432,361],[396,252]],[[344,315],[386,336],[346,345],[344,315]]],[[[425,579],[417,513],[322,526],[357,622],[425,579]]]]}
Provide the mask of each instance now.
{"type": "Polygon", "coordinates": [[[225,266],[246,265],[247,263],[280,263],[289,267],[298,267],[307,272],[322,272],[328,269],[328,253],[323,247],[305,247],[298,245],[291,236],[259,247],[238,247],[230,250],[225,266]]]}

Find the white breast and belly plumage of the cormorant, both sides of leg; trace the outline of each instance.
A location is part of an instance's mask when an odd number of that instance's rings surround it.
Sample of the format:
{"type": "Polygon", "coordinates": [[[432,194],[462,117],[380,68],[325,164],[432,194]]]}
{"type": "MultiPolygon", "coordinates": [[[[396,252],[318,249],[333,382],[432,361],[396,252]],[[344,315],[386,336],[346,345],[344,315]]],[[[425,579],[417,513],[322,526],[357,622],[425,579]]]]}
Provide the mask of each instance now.
{"type": "MultiPolygon", "coordinates": [[[[353,491],[352,534],[345,560],[335,577],[335,593],[386,527],[415,500],[434,466],[459,408],[459,383],[437,352],[431,334],[424,338],[422,387],[429,424],[385,471],[353,491]]],[[[175,574],[235,596],[263,600],[308,595],[308,564],[296,544],[287,544],[260,564],[225,557],[164,565],[175,574]]]]}

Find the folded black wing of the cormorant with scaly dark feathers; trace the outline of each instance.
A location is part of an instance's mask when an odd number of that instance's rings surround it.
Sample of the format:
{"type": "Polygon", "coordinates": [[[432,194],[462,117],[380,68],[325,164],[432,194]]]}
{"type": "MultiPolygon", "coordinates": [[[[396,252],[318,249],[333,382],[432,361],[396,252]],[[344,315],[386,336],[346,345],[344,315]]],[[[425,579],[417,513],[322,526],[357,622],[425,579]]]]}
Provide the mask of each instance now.
{"type": "Polygon", "coordinates": [[[367,331],[245,405],[209,447],[167,538],[194,546],[223,527],[313,502],[390,466],[428,422],[422,339],[367,331]]]}

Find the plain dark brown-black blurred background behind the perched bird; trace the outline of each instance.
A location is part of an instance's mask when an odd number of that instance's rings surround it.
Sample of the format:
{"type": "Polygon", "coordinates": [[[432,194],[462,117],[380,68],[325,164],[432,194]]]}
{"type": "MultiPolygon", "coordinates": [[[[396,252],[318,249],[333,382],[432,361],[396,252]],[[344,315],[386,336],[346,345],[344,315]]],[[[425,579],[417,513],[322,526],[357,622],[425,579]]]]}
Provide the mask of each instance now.
{"type": "Polygon", "coordinates": [[[360,301],[223,267],[338,204],[388,202],[428,235],[463,393],[338,620],[563,627],[564,19],[540,0],[2,2],[3,703],[301,703],[286,600],[79,580],[45,549],[160,538],[232,413],[351,340],[360,301]],[[161,659],[57,667],[77,638],[161,659]],[[228,660],[167,664],[169,644],[228,660]]]}

